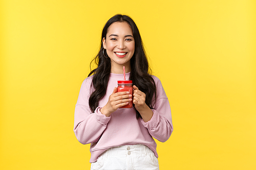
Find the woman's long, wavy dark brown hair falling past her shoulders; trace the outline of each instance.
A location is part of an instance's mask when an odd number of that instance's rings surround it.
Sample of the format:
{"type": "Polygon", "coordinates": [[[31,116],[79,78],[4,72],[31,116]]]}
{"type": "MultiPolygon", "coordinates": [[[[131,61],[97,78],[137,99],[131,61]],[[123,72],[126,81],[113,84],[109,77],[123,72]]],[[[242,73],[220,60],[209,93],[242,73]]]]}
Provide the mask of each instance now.
{"type": "MultiPolygon", "coordinates": [[[[89,99],[89,106],[92,112],[98,107],[99,101],[103,98],[106,93],[106,88],[108,86],[109,78],[110,78],[110,70],[111,70],[111,60],[110,58],[105,58],[103,56],[103,44],[102,39],[106,39],[106,33],[108,32],[108,28],[114,22],[127,22],[133,31],[133,36],[135,40],[135,51],[134,55],[131,58],[131,74],[130,80],[133,81],[133,84],[136,85],[140,91],[146,94],[145,103],[148,107],[153,109],[153,106],[156,102],[156,84],[154,79],[152,78],[152,70],[148,66],[148,61],[146,58],[145,50],[143,47],[143,43],[141,40],[141,36],[139,30],[135,24],[135,22],[127,15],[120,15],[117,14],[110,18],[103,30],[101,35],[101,42],[100,42],[100,50],[97,56],[93,59],[95,61],[97,68],[93,69],[90,74],[93,75],[91,89],[93,92],[91,93],[89,99]]],[[[106,55],[106,53],[105,53],[106,55]]],[[[92,62],[93,62],[92,61],[92,62]]],[[[92,66],[91,62],[91,66],[92,66]]],[[[134,107],[135,109],[135,107],[134,107]]],[[[136,117],[137,119],[141,117],[140,113],[136,110],[136,117]]]]}

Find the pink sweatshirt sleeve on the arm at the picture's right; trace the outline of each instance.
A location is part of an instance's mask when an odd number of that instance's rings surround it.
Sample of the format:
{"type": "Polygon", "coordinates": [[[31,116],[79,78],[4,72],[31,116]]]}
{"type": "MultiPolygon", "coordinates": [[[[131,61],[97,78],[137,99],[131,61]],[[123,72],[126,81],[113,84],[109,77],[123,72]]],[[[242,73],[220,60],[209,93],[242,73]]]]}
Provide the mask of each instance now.
{"type": "Polygon", "coordinates": [[[148,122],[141,119],[142,125],[147,128],[152,137],[165,142],[173,132],[172,114],[163,86],[157,77],[153,77],[157,87],[157,99],[153,116],[148,122]]]}

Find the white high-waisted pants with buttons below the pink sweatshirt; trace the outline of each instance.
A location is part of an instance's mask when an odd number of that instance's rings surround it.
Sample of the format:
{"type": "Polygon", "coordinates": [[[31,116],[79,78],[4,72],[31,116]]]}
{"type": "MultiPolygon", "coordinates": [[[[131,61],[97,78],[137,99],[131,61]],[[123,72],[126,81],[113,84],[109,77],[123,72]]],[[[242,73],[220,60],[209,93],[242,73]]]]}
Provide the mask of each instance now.
{"type": "Polygon", "coordinates": [[[99,155],[91,170],[157,170],[158,160],[154,152],[142,144],[124,145],[106,150],[99,155]]]}

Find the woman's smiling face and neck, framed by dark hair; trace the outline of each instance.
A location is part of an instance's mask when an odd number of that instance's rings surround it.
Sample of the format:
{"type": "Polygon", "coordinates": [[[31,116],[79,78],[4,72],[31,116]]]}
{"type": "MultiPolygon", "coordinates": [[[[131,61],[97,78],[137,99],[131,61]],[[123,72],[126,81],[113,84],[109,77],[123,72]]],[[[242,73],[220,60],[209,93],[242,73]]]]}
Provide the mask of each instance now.
{"type": "Polygon", "coordinates": [[[114,22],[110,25],[103,47],[112,61],[112,67],[131,67],[130,60],[135,50],[133,31],[127,22],[114,22]]]}

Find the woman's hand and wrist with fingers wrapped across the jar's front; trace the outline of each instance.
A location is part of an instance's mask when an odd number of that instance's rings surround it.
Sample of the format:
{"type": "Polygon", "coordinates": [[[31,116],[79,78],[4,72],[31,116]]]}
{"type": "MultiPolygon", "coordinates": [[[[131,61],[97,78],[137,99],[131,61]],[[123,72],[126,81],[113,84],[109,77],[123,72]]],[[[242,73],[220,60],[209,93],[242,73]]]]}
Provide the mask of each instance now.
{"type": "Polygon", "coordinates": [[[117,88],[115,87],[109,97],[108,103],[106,103],[106,105],[100,109],[100,112],[109,117],[111,113],[116,111],[118,108],[129,104],[131,101],[132,95],[129,91],[117,92],[117,88]]]}

